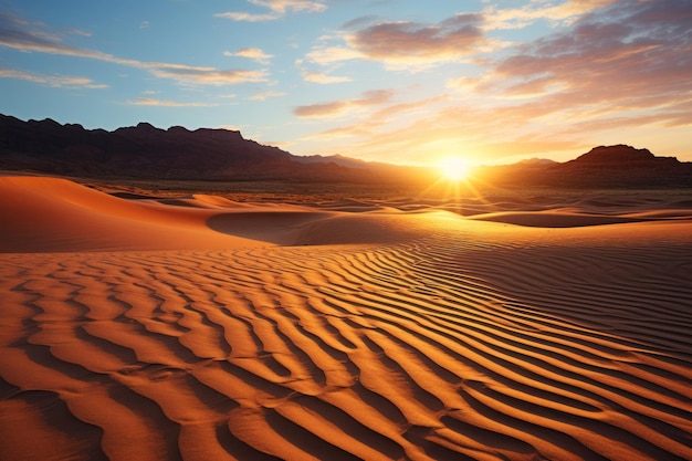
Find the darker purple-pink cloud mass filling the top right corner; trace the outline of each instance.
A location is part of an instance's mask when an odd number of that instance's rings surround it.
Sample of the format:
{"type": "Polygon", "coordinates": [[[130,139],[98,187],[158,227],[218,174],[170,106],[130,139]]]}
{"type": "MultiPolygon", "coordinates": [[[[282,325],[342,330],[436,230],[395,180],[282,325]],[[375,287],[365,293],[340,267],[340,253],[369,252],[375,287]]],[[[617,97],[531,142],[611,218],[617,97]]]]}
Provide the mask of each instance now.
{"type": "Polygon", "coordinates": [[[539,96],[544,113],[663,108],[692,93],[690,23],[692,9],[677,0],[615,2],[495,62],[478,88],[539,96]]]}

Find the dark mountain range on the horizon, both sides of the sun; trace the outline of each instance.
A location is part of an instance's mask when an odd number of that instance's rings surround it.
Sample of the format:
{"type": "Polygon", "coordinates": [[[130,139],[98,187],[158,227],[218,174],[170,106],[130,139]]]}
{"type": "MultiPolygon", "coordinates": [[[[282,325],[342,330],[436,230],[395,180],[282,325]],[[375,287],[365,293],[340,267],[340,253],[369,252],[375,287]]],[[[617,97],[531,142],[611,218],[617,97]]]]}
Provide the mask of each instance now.
{"type": "MultiPolygon", "coordinates": [[[[83,178],[354,184],[426,181],[437,174],[340,155],[295,156],[228,129],[160,129],[139,123],[107,132],[2,114],[0,169],[83,178]]],[[[595,147],[566,163],[531,159],[475,172],[511,187],[692,187],[692,163],[627,145],[595,147]]]]}

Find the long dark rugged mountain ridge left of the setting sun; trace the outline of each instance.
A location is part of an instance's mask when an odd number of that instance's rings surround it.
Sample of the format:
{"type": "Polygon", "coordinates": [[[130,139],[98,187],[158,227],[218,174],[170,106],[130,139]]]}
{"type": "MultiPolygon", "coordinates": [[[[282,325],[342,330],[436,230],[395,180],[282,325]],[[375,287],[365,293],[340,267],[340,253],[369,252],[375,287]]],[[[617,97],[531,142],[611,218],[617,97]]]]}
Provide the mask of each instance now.
{"type": "Polygon", "coordinates": [[[0,169],[102,178],[381,180],[377,168],[367,165],[345,157],[304,161],[227,129],[160,129],[140,123],[106,132],[0,115],[0,169]]]}

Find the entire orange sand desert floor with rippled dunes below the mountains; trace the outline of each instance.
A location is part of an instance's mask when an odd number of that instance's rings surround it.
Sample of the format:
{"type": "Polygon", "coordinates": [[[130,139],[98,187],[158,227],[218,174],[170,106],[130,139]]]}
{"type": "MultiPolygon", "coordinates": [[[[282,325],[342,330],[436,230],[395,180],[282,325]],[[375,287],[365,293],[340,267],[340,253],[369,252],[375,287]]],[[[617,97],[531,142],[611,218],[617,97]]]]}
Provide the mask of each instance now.
{"type": "Polygon", "coordinates": [[[692,459],[692,199],[0,177],[0,252],[3,461],[692,459]]]}

